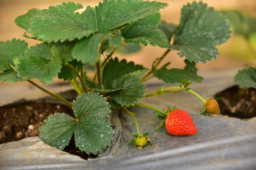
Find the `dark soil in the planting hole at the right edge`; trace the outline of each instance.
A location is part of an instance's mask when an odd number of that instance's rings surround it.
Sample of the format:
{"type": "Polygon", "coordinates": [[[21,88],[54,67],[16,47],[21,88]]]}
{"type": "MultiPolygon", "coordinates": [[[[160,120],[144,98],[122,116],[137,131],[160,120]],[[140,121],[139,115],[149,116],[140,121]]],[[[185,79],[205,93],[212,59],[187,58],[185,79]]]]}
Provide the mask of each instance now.
{"type": "Polygon", "coordinates": [[[256,89],[239,88],[233,86],[219,92],[215,97],[224,97],[217,100],[221,114],[239,119],[249,119],[256,116],[256,89]]]}

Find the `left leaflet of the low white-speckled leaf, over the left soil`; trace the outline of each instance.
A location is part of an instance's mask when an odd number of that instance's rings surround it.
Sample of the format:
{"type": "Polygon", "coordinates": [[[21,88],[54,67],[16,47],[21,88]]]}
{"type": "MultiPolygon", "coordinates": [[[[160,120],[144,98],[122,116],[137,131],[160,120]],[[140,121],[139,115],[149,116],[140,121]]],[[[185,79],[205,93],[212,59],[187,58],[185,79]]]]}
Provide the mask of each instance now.
{"type": "Polygon", "coordinates": [[[63,150],[74,133],[75,119],[65,113],[55,113],[44,120],[39,137],[47,144],[63,150]]]}

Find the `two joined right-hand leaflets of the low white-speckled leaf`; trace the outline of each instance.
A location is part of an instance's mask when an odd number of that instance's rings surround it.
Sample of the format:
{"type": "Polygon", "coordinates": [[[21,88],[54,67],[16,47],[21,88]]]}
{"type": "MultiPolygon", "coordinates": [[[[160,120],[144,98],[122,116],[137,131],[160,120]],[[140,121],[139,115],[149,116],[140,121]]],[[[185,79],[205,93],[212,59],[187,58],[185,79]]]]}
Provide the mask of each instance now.
{"type": "Polygon", "coordinates": [[[102,148],[111,145],[113,129],[106,121],[111,113],[106,98],[93,92],[77,96],[73,110],[78,122],[75,125],[76,147],[87,154],[102,152],[102,148]]]}

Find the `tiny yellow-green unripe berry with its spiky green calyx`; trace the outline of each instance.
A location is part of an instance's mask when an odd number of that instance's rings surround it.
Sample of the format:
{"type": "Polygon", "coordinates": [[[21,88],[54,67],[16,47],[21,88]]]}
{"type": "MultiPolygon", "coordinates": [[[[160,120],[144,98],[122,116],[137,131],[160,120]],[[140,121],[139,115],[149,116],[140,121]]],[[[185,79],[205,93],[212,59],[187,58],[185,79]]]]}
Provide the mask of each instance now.
{"type": "Polygon", "coordinates": [[[134,143],[134,148],[142,149],[145,147],[145,145],[148,143],[150,145],[153,145],[151,142],[151,139],[148,138],[148,130],[144,134],[135,134],[132,133],[132,136],[134,137],[131,139],[127,144],[133,144],[134,143]]]}

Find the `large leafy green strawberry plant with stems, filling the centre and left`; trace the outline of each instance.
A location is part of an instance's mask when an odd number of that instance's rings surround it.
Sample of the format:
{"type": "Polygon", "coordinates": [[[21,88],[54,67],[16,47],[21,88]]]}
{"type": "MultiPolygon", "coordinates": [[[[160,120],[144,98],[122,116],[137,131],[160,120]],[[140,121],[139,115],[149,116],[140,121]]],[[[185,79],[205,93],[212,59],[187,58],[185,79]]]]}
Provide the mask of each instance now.
{"type": "MultiPolygon", "coordinates": [[[[167,3],[156,1],[104,0],[79,13],[76,11],[83,6],[69,2],[43,10],[33,8],[16,18],[17,26],[26,31],[23,36],[41,43],[28,48],[24,40],[0,42],[0,81],[27,81],[64,102],[74,113],[73,117],[55,113],[45,119],[39,135],[44,142],[63,150],[74,134],[76,147],[81,151],[102,152],[111,145],[113,136],[107,117],[111,110],[121,109],[133,116],[137,127],[137,134],[133,133],[134,139],[128,144],[142,148],[146,143],[152,144],[147,137],[148,131],[140,133],[134,113],[128,107],[151,108],[158,118],[166,119],[166,113],[140,104],[140,99],[187,91],[204,103],[207,101],[192,91],[189,84],[203,80],[197,74],[196,63],[216,59],[219,52],[215,46],[230,37],[228,20],[207,4],[193,2],[183,6],[180,23],[176,26],[160,20],[158,11],[167,6],[167,3]],[[166,52],[151,68],[144,68],[114,57],[126,43],[150,44],[166,48],[166,52]],[[180,51],[177,54],[184,57],[185,68],[169,69],[170,62],[158,67],[172,50],[180,51]],[[94,77],[87,77],[84,65],[95,66],[94,77]],[[32,81],[52,83],[55,77],[69,81],[76,89],[79,96],[73,103],[32,81]],[[144,83],[153,77],[180,85],[163,86],[147,94],[144,83]]],[[[190,116],[185,115],[188,120],[190,116]]],[[[192,125],[191,118],[189,121],[192,125]]],[[[184,132],[183,135],[195,133],[184,132]]]]}

